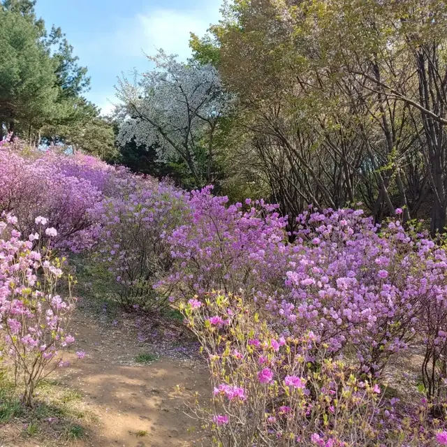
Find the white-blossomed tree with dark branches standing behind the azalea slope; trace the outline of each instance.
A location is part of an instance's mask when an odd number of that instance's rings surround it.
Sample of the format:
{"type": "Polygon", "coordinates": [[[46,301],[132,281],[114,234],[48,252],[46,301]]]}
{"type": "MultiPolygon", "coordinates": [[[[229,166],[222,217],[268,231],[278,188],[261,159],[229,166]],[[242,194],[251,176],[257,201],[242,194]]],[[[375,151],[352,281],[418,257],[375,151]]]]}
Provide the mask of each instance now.
{"type": "Polygon", "coordinates": [[[181,158],[196,186],[212,182],[214,135],[230,95],[211,65],[183,64],[159,50],[140,82],[119,80],[120,144],[156,145],[163,161],[181,158]]]}

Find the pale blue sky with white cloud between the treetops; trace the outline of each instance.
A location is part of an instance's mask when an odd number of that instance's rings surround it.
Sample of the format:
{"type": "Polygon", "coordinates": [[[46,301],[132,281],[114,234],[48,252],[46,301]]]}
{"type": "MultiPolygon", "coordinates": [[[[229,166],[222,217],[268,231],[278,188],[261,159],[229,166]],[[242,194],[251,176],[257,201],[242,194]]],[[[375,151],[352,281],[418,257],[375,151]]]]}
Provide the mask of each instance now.
{"type": "Polygon", "coordinates": [[[143,52],[160,47],[186,59],[189,32],[203,35],[218,22],[220,6],[221,0],[38,0],[36,12],[47,29],[55,24],[64,31],[89,68],[87,98],[107,113],[117,76],[149,70],[143,52]]]}

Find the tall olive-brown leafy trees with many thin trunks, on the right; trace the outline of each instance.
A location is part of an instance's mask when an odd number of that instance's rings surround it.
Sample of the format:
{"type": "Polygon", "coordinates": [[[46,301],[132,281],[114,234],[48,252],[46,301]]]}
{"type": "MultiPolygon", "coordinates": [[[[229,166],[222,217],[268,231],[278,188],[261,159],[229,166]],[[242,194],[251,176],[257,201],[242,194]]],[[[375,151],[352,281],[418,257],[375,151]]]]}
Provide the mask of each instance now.
{"type": "Polygon", "coordinates": [[[229,177],[255,175],[291,222],[361,201],[443,230],[444,2],[235,0],[223,14],[191,48],[237,96],[229,177]]]}

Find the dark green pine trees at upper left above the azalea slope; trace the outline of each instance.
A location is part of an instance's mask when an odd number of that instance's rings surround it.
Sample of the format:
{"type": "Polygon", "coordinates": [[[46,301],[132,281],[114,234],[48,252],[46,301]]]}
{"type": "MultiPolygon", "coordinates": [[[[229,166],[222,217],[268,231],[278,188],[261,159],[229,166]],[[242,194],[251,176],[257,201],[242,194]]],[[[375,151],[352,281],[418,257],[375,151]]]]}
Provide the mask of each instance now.
{"type": "Polygon", "coordinates": [[[60,28],[47,31],[35,4],[0,3],[0,137],[11,133],[33,145],[64,142],[110,153],[112,126],[83,97],[90,83],[87,68],[60,28]]]}

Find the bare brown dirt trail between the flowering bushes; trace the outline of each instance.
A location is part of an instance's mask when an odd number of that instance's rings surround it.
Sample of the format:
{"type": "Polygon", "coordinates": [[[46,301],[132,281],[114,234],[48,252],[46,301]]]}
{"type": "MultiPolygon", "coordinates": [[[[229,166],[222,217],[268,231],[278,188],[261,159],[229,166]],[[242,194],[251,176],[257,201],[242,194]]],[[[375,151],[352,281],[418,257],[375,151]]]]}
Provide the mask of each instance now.
{"type": "MultiPolygon", "coordinates": [[[[184,413],[187,406],[177,385],[184,386],[190,395],[196,390],[206,393],[209,383],[203,363],[182,355],[164,356],[161,352],[158,360],[139,365],[135,363],[135,356],[154,352],[159,343],[155,341],[152,347],[139,343],[130,321],[105,325],[80,312],[73,322],[75,350],[85,351],[86,357],[74,360],[75,356],[69,355],[72,365],[59,370],[58,375],[66,386],[85,395],[89,407],[98,416],[98,423],[89,427],[89,437],[82,444],[95,447],[196,445],[199,438],[196,423],[184,413]],[[195,431],[189,432],[190,429],[195,431]]],[[[163,343],[163,339],[159,342],[163,343]]]]}

